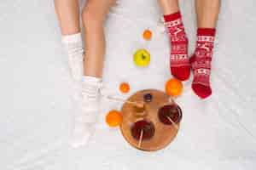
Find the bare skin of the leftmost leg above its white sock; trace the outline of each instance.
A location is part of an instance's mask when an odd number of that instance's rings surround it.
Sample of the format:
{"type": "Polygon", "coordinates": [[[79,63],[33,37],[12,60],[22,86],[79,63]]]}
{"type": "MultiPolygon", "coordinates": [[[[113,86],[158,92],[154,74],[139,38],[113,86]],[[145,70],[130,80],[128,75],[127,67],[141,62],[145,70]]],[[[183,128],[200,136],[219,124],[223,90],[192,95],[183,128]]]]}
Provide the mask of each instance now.
{"type": "Polygon", "coordinates": [[[80,31],[79,0],[55,0],[55,12],[58,16],[62,35],[80,31]]]}

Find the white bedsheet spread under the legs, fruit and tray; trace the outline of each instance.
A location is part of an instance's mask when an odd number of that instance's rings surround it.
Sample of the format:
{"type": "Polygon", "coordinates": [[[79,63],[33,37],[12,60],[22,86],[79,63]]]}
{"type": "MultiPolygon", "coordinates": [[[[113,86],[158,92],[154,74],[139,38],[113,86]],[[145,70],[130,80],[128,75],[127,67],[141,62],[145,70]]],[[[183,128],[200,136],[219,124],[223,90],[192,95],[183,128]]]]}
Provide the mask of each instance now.
{"type": "MultiPolygon", "coordinates": [[[[190,49],[195,46],[193,1],[181,1],[190,49]]],[[[105,114],[121,104],[102,101],[96,133],[87,147],[68,147],[77,88],[69,75],[67,54],[53,1],[2,0],[0,3],[0,169],[1,170],[136,170],[256,168],[256,3],[225,0],[218,22],[212,68],[212,97],[198,99],[184,83],[177,103],[183,124],[165,150],[142,152],[110,129],[105,114]],[[254,137],[253,137],[254,136],[254,137]]],[[[169,43],[157,29],[160,11],[155,0],[121,0],[109,14],[105,90],[119,94],[130,82],[131,94],[144,88],[164,89],[171,77],[169,43]],[[144,42],[145,28],[154,31],[144,42]],[[132,63],[137,48],[148,48],[151,65],[132,63]]]]}

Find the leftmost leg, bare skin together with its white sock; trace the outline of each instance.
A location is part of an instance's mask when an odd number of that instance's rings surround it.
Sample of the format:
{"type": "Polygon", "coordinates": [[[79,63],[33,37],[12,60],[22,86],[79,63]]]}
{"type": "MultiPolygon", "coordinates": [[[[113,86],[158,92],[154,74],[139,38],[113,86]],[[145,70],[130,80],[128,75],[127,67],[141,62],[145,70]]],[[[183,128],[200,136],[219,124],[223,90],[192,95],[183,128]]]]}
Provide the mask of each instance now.
{"type": "Polygon", "coordinates": [[[84,49],[79,26],[79,0],[55,0],[62,34],[62,42],[67,50],[68,65],[73,79],[81,81],[83,77],[84,49]]]}

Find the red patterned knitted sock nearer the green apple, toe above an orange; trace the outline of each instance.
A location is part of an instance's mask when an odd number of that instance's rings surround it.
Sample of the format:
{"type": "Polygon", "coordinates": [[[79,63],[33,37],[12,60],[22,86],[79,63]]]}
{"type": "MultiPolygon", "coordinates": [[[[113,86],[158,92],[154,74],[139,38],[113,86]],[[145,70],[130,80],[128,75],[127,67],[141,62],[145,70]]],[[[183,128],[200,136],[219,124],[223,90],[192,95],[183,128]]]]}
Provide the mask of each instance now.
{"type": "Polygon", "coordinates": [[[170,66],[174,77],[181,81],[189,79],[188,37],[180,12],[164,15],[166,29],[171,40],[170,66]]]}

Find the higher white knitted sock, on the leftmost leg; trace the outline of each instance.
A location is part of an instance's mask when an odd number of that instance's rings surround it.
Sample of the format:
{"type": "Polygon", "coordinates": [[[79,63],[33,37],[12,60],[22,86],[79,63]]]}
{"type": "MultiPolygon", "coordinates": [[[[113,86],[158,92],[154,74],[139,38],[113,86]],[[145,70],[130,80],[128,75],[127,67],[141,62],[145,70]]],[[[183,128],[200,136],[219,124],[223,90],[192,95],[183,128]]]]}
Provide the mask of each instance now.
{"type": "Polygon", "coordinates": [[[67,49],[68,65],[76,81],[81,81],[84,72],[84,48],[81,33],[62,36],[62,43],[67,49]]]}

